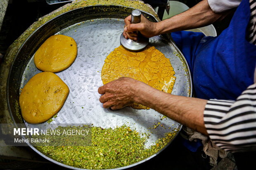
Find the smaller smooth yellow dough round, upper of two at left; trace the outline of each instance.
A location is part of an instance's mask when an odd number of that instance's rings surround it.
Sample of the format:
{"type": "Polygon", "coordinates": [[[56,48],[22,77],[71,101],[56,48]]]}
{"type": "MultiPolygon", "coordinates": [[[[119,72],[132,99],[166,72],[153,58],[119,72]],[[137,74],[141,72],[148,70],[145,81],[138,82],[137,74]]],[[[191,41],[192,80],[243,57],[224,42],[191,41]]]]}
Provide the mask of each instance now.
{"type": "Polygon", "coordinates": [[[39,70],[60,72],[76,59],[77,45],[72,37],[52,35],[36,51],[34,62],[39,70]]]}

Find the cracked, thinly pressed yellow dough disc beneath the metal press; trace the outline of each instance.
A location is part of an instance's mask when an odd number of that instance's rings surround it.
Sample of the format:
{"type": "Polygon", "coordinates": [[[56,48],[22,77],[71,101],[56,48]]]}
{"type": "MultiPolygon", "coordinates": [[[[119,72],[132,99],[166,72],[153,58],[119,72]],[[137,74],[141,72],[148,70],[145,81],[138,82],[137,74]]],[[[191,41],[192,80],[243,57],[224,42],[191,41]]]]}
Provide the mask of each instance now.
{"type": "MultiPolygon", "coordinates": [[[[174,75],[170,60],[155,47],[131,52],[119,46],[107,56],[101,72],[103,84],[120,77],[131,77],[166,93],[172,92],[176,78],[174,75]]],[[[130,106],[149,109],[137,103],[130,106]]]]}

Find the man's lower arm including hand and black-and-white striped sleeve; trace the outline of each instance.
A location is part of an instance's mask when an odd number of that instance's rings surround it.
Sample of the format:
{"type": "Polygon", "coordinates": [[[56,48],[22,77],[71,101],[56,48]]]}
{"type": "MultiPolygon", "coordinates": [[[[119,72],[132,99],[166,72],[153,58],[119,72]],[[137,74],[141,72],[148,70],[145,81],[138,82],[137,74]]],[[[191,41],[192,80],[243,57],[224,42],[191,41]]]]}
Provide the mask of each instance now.
{"type": "Polygon", "coordinates": [[[136,102],[208,135],[227,151],[256,148],[256,84],[236,101],[171,95],[128,77],[109,82],[98,92],[104,108],[121,109],[136,102]]]}

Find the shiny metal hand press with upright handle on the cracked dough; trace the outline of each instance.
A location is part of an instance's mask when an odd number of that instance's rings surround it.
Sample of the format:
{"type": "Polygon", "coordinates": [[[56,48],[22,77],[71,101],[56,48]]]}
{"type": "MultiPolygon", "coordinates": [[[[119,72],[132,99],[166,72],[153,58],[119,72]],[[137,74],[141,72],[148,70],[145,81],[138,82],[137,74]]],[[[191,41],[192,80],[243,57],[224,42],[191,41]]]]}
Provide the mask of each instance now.
{"type": "MultiPolygon", "coordinates": [[[[131,23],[140,23],[141,21],[141,12],[137,9],[134,9],[131,14],[131,23]]],[[[120,37],[121,45],[130,50],[130,51],[140,51],[144,49],[149,43],[149,38],[143,37],[140,32],[137,31],[138,37],[137,41],[126,39],[123,37],[123,33],[120,37]]]]}

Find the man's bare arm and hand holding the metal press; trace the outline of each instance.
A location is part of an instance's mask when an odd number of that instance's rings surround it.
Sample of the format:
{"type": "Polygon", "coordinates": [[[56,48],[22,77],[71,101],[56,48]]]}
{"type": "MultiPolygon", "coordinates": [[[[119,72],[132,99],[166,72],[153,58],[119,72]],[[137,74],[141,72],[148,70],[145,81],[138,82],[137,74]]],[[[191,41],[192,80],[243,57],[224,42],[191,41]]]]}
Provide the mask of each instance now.
{"type": "Polygon", "coordinates": [[[145,37],[153,37],[155,35],[170,33],[174,31],[199,28],[210,25],[217,20],[223,19],[225,16],[227,16],[228,13],[229,11],[215,13],[209,6],[208,1],[202,0],[187,11],[158,23],[150,22],[144,16],[142,16],[140,23],[131,24],[131,16],[128,16],[125,19],[123,35],[126,38],[136,40],[136,33],[131,32],[137,30],[140,31],[140,33],[145,37]]]}

